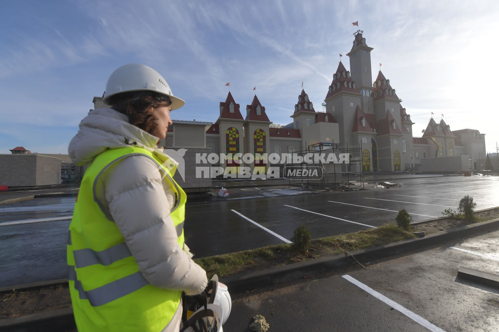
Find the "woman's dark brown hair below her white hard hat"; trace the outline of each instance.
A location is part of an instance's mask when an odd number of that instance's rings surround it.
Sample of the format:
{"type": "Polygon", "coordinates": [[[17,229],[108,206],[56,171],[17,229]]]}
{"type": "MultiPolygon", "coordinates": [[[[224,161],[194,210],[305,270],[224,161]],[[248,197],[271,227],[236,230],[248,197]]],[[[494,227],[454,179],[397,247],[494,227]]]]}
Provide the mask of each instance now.
{"type": "Polygon", "coordinates": [[[150,111],[159,107],[171,105],[171,100],[167,96],[148,96],[136,94],[119,94],[110,98],[109,103],[112,109],[128,116],[128,122],[156,135],[158,119],[150,111]]]}

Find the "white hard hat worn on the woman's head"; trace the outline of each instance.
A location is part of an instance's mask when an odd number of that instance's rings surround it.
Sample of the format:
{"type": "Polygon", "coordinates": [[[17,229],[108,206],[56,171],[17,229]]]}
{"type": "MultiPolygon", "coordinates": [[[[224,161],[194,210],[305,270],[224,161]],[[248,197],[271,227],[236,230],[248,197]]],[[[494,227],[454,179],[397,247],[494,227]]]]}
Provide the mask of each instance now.
{"type": "Polygon", "coordinates": [[[172,100],[172,110],[184,106],[185,101],[173,95],[166,80],[151,67],[132,63],[116,69],[106,84],[104,103],[109,105],[111,96],[125,92],[151,91],[153,94],[165,95],[172,100]]]}

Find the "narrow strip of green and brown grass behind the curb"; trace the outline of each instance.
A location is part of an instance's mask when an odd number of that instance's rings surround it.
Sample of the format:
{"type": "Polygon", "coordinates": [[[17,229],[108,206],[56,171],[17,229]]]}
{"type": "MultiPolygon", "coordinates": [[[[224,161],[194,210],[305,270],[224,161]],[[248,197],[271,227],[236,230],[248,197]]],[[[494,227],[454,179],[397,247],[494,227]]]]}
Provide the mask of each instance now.
{"type": "Polygon", "coordinates": [[[209,278],[215,273],[220,278],[224,278],[252,270],[315,259],[325,255],[340,254],[346,251],[411,238],[415,238],[413,233],[405,231],[391,222],[378,228],[313,239],[310,241],[310,250],[306,254],[299,253],[292,244],[283,243],[225,255],[198,258],[195,261],[206,270],[209,278]]]}

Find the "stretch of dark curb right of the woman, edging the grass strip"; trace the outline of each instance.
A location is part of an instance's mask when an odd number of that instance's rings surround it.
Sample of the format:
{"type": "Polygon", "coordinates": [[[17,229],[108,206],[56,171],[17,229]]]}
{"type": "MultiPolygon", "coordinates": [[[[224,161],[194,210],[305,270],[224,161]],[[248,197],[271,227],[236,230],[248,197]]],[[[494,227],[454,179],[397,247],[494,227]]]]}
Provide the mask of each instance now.
{"type": "MultiPolygon", "coordinates": [[[[360,249],[353,251],[352,254],[359,261],[380,259],[414,249],[426,249],[429,246],[437,245],[445,241],[458,238],[461,239],[463,236],[470,236],[471,234],[497,229],[499,229],[499,218],[432,233],[422,238],[403,240],[377,247],[360,249]]],[[[273,286],[286,281],[301,279],[303,276],[316,275],[354,262],[355,260],[352,255],[343,253],[338,256],[325,256],[318,259],[251,272],[245,275],[230,276],[222,278],[220,281],[226,284],[231,289],[231,292],[240,293],[265,286],[273,286]]]]}

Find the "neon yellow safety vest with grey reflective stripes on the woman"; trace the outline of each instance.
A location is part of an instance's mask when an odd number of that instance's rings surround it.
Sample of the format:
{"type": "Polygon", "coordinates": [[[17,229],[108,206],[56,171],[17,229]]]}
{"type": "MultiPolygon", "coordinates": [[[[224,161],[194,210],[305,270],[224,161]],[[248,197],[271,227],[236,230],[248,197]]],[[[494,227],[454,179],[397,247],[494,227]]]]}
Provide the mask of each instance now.
{"type": "Polygon", "coordinates": [[[181,292],[147,282],[120,230],[95,197],[98,176],[115,162],[137,154],[156,161],[163,168],[164,181],[173,184],[176,202],[171,217],[177,242],[184,248],[186,195],[173,180],[176,162],[139,147],[108,149],[99,154],[81,181],[68,233],[69,291],[79,332],[160,332],[179,308],[181,292]]]}

